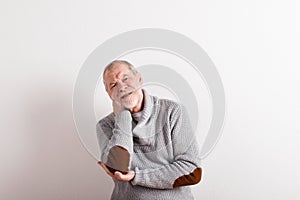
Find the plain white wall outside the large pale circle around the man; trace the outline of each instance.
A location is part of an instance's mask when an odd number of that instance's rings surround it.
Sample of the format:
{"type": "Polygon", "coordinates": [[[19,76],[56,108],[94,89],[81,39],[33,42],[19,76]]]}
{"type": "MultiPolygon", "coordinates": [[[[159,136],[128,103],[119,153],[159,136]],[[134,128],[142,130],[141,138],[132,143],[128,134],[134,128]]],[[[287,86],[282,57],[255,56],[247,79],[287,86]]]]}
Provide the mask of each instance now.
{"type": "Polygon", "coordinates": [[[2,0],[0,199],[109,199],[73,85],[98,45],[145,27],[193,39],[223,80],[227,120],[196,199],[299,199],[299,13],[297,0],[2,0]]]}

